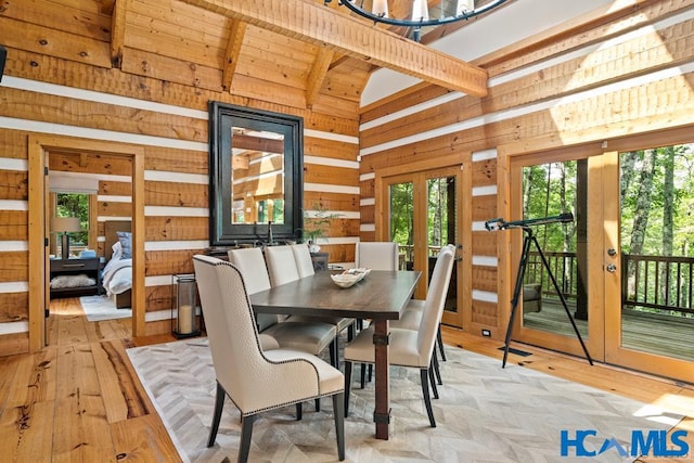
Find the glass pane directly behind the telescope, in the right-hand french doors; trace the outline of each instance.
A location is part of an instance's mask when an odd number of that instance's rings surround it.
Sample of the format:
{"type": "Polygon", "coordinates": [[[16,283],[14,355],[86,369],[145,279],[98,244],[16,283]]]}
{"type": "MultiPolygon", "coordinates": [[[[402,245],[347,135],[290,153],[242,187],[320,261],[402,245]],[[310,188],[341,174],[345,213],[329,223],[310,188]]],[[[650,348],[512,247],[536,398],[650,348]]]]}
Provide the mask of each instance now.
{"type": "Polygon", "coordinates": [[[537,237],[518,295],[526,327],[576,337],[570,316],[581,337],[588,337],[588,187],[586,159],[523,168],[523,219],[537,237]],[[570,222],[560,218],[567,213],[574,215],[570,222]]]}

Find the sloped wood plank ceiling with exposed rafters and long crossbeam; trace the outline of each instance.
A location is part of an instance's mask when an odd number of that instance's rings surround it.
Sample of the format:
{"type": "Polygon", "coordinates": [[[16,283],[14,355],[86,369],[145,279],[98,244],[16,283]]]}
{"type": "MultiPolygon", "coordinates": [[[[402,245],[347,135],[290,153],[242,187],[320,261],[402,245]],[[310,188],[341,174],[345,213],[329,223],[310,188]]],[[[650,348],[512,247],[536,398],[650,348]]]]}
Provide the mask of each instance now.
{"type": "MultiPolygon", "coordinates": [[[[404,16],[393,1],[394,15],[404,16]]],[[[426,47],[426,36],[416,43],[402,28],[381,26],[337,0],[5,0],[0,8],[9,48],[337,117],[354,117],[381,67],[486,94],[485,69],[426,47]]]]}

